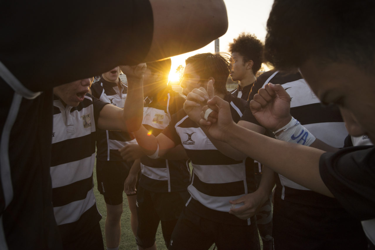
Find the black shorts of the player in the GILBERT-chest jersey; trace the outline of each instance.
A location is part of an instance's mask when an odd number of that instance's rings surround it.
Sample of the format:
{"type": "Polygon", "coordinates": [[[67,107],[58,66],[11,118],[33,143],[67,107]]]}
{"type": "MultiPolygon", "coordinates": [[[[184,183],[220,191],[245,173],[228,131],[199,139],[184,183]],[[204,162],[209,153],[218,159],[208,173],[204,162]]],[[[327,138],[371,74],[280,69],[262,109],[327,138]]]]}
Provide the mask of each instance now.
{"type": "Polygon", "coordinates": [[[260,250],[255,223],[249,226],[217,223],[184,207],[172,233],[169,250],[206,250],[213,243],[220,250],[260,250]]]}

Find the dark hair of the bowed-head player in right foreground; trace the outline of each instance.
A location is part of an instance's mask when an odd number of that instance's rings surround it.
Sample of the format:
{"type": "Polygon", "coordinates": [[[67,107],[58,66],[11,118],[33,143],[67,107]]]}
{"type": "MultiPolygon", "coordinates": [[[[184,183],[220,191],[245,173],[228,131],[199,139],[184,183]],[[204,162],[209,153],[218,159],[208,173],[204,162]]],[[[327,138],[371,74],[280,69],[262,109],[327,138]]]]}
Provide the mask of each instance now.
{"type": "Polygon", "coordinates": [[[312,59],[323,65],[349,61],[371,71],[374,13],[374,0],[275,0],[267,21],[265,58],[281,70],[295,70],[312,59]]]}

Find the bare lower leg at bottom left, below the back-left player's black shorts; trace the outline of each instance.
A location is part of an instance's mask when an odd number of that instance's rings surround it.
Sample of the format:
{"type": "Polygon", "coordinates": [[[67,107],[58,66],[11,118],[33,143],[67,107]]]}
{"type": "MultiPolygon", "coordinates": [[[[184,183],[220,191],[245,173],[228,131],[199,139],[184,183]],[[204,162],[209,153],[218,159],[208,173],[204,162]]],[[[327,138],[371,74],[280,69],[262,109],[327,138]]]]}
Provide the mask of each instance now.
{"type": "Polygon", "coordinates": [[[105,242],[108,248],[116,248],[120,245],[122,203],[119,205],[105,205],[107,207],[105,242]]]}

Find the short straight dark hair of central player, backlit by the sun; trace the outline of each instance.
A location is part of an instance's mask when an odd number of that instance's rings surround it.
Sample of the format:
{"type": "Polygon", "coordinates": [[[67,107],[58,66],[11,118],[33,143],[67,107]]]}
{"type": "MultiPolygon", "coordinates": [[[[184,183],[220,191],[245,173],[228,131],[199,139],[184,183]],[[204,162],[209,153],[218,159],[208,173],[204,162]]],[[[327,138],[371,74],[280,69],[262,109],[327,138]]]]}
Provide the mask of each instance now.
{"type": "Polygon", "coordinates": [[[226,80],[228,79],[231,66],[229,57],[223,53],[203,53],[193,55],[185,60],[186,65],[191,64],[195,73],[199,75],[201,81],[207,81],[208,78],[215,79],[215,91],[225,94],[226,80]]]}

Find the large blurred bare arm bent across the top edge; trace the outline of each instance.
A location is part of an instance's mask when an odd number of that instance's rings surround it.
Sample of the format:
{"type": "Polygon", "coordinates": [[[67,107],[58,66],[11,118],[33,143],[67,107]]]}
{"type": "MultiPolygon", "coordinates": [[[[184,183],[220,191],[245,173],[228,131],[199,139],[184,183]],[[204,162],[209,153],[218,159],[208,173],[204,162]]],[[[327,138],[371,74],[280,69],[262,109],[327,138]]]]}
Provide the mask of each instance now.
{"type": "Polygon", "coordinates": [[[228,29],[223,0],[150,0],[150,3],[154,31],[145,61],[194,51],[228,29]]]}

